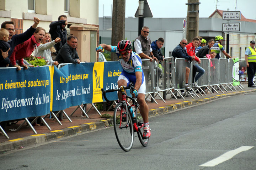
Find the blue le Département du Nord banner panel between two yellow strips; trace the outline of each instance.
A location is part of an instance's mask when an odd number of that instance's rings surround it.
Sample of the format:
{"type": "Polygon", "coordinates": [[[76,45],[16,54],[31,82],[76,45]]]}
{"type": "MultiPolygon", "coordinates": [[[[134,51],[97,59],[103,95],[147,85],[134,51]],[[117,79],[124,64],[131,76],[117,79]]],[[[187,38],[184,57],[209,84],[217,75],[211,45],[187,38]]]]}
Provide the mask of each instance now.
{"type": "Polygon", "coordinates": [[[51,111],[92,102],[92,68],[94,63],[54,67],[51,111]]]}

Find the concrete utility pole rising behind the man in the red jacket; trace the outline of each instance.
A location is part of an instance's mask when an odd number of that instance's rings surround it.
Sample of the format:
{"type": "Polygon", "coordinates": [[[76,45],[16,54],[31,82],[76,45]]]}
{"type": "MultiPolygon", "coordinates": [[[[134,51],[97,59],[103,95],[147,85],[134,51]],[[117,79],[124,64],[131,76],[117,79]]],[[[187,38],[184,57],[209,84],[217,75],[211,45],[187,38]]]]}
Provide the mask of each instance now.
{"type": "Polygon", "coordinates": [[[192,41],[195,36],[199,34],[199,0],[188,0],[187,11],[187,40],[188,43],[192,41]]]}

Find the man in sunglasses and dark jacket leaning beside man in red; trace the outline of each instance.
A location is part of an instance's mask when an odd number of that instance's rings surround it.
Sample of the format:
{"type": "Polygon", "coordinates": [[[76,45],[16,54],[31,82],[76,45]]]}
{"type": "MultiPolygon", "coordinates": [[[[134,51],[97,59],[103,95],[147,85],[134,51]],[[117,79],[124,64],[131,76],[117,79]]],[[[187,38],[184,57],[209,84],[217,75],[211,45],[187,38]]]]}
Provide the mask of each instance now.
{"type": "MultiPolygon", "coordinates": [[[[187,53],[187,50],[185,49],[187,45],[187,39],[183,38],[180,41],[180,44],[178,44],[175,49],[172,51],[172,56],[174,58],[185,58],[188,61],[192,61],[195,59],[194,56],[189,56],[187,53]]],[[[193,71],[197,69],[196,67],[193,67],[193,71]]],[[[194,72],[195,74],[196,72],[194,72]]],[[[188,86],[188,78],[189,78],[189,74],[190,74],[190,68],[186,67],[186,78],[185,78],[185,89],[188,91],[192,91],[192,89],[190,88],[190,86],[188,86]]],[[[181,91],[182,92],[182,91],[181,91]]]]}

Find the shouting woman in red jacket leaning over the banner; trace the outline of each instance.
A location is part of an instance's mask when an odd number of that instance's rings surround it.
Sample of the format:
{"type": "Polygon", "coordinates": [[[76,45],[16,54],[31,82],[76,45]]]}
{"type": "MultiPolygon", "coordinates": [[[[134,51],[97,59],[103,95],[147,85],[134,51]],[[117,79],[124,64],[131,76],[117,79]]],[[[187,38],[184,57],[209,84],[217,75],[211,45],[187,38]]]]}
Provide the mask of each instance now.
{"type": "MultiPolygon", "coordinates": [[[[34,34],[27,41],[17,45],[11,54],[10,60],[13,67],[17,67],[17,70],[21,70],[21,67],[27,69],[27,65],[23,63],[23,58],[29,57],[31,53],[40,45],[43,40],[46,31],[42,27],[37,27],[34,34]],[[18,60],[20,66],[16,64],[18,60]]],[[[33,66],[32,66],[33,67],[33,66]]]]}

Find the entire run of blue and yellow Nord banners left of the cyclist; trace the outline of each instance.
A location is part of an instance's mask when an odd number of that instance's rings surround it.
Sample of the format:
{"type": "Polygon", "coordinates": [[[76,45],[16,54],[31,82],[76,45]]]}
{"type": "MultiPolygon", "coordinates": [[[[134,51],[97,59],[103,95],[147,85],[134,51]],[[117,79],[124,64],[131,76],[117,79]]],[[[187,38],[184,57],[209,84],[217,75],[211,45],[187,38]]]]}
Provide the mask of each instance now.
{"type": "MultiPolygon", "coordinates": [[[[101,88],[117,89],[118,61],[1,69],[0,121],[48,114],[82,103],[103,102],[101,88]]],[[[108,93],[117,100],[116,92],[108,93]]]]}

